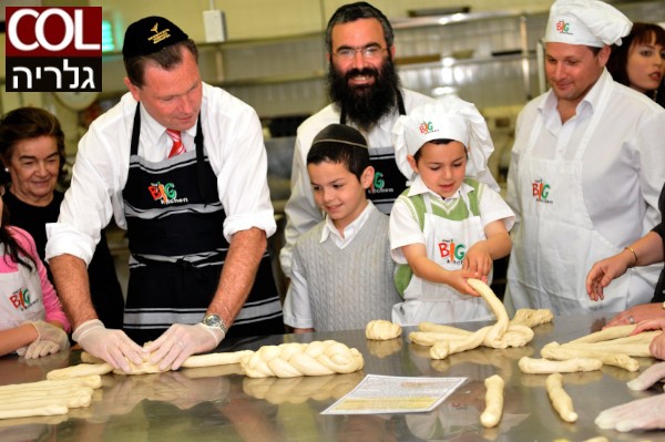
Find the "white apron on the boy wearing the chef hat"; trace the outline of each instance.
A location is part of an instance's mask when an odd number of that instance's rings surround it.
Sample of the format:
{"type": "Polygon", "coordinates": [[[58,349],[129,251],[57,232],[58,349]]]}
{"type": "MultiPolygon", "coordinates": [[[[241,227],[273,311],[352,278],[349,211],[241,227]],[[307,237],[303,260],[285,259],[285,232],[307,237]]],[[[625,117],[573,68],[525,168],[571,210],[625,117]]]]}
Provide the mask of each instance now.
{"type": "MultiPolygon", "coordinates": [[[[464,220],[434,215],[430,194],[424,194],[422,198],[426,207],[422,233],[427,256],[447,270],[461,269],[467,250],[485,239],[480,216],[471,213],[468,196],[462,192],[460,194],[470,215],[464,220]]],[[[430,282],[416,275],[411,276],[403,296],[405,301],[392,307],[392,321],[401,326],[417,326],[422,321],[449,323],[493,318],[482,298],[462,295],[446,284],[430,282]]]]}

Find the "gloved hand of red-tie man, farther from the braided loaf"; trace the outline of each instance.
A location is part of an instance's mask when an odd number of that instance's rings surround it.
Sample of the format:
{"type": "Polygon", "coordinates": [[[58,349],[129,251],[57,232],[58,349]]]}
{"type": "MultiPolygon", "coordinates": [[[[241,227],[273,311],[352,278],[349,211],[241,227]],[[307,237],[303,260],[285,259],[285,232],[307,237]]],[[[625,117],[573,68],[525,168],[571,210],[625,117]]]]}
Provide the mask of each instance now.
{"type": "Polygon", "coordinates": [[[124,331],[108,329],[99,319],[90,319],[81,323],[72,335],[83,350],[109,362],[113,368],[120,368],[125,373],[131,371],[127,359],[134,364],[143,363],[147,353],[124,331]]]}

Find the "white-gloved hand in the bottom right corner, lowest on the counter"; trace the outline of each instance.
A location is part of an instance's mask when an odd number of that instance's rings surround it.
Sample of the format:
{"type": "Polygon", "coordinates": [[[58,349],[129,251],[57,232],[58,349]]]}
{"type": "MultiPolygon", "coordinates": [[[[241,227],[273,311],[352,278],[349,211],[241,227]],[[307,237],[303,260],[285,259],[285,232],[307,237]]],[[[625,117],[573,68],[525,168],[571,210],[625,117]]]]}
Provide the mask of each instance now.
{"type": "Polygon", "coordinates": [[[665,394],[637,399],[601,411],[595,424],[603,430],[622,432],[665,429],[665,394]]]}

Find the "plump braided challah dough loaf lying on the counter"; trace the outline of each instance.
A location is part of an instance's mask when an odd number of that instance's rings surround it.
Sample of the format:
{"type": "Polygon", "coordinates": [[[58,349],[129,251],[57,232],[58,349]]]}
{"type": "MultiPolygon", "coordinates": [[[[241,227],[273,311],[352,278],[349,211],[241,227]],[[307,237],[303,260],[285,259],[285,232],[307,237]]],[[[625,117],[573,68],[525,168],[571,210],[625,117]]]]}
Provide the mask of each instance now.
{"type": "Polygon", "coordinates": [[[249,378],[351,373],[362,366],[362,354],[357,349],[334,340],[264,346],[241,361],[249,378]]]}

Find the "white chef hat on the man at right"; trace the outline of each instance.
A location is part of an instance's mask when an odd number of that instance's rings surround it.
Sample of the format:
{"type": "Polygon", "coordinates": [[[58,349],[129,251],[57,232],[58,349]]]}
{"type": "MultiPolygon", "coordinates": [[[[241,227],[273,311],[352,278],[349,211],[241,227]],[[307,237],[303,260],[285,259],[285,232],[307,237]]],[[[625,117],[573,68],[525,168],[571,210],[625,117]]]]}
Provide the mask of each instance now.
{"type": "Polygon", "coordinates": [[[600,0],[556,0],[550,8],[545,42],[603,48],[621,45],[633,23],[616,8],[600,0]]]}

